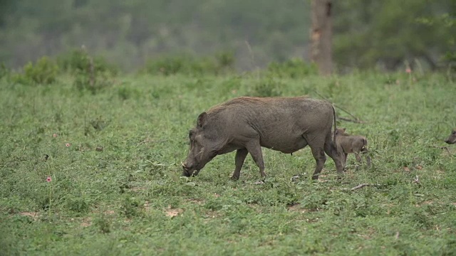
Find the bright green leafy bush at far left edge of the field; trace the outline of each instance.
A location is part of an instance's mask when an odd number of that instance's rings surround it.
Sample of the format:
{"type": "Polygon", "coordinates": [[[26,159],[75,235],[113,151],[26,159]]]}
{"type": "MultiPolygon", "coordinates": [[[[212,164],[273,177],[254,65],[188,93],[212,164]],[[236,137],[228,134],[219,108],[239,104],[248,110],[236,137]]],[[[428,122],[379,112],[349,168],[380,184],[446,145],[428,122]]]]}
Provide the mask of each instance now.
{"type": "Polygon", "coordinates": [[[25,85],[50,85],[56,81],[58,65],[46,56],[24,66],[24,73],[16,73],[12,80],[25,85]]]}

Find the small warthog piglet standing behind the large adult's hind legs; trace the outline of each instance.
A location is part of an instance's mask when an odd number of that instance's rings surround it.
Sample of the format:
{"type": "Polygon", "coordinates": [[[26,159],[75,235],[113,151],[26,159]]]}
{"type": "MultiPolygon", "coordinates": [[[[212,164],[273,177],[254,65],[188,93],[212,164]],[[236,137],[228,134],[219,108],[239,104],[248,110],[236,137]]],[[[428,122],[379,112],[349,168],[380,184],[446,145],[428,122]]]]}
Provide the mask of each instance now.
{"type": "MultiPolygon", "coordinates": [[[[361,163],[360,154],[366,154],[368,151],[368,140],[366,137],[347,134],[345,128],[337,128],[334,133],[336,136],[336,144],[339,154],[342,155],[342,165],[346,168],[347,155],[353,153],[356,156],[356,160],[361,163]]],[[[368,166],[371,166],[371,157],[367,156],[366,161],[368,166]]]]}

